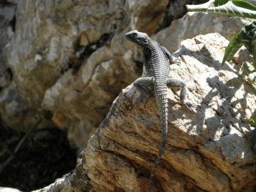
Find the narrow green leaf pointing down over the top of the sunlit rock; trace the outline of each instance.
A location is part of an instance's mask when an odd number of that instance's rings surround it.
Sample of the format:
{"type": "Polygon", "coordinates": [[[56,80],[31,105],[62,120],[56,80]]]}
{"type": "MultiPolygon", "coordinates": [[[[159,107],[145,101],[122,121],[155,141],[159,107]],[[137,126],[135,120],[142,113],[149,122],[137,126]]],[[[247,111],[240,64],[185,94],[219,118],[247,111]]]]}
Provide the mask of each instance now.
{"type": "Polygon", "coordinates": [[[225,54],[224,54],[223,60],[221,62],[222,65],[225,64],[225,61],[232,60],[234,54],[236,54],[238,49],[240,49],[240,47],[243,46],[243,43],[241,43],[237,40],[238,36],[239,36],[239,33],[236,33],[231,36],[230,42],[225,49],[225,54]]]}

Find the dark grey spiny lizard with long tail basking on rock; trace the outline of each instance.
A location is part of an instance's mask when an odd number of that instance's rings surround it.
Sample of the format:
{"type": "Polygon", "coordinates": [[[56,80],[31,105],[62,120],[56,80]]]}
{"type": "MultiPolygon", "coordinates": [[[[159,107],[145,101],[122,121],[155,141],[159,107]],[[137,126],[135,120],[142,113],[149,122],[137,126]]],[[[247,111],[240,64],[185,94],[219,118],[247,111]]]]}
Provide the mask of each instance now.
{"type": "Polygon", "coordinates": [[[147,76],[136,79],[133,85],[140,92],[141,100],[145,97],[148,99],[151,95],[145,87],[154,87],[157,108],[159,110],[162,126],[159,152],[152,168],[150,180],[148,183],[148,191],[150,191],[154,173],[156,172],[157,165],[163,156],[164,148],[166,145],[168,132],[168,87],[180,87],[180,102],[182,102],[182,104],[184,104],[187,108],[191,107],[191,103],[185,100],[187,94],[186,83],[184,83],[184,81],[168,77],[170,72],[169,64],[175,63],[172,54],[170,54],[170,52],[165,47],[161,46],[158,42],[152,40],[152,38],[150,38],[147,33],[141,33],[137,30],[133,30],[125,33],[125,36],[128,40],[137,45],[140,45],[140,47],[143,49],[143,65],[145,65],[147,70],[147,76]]]}

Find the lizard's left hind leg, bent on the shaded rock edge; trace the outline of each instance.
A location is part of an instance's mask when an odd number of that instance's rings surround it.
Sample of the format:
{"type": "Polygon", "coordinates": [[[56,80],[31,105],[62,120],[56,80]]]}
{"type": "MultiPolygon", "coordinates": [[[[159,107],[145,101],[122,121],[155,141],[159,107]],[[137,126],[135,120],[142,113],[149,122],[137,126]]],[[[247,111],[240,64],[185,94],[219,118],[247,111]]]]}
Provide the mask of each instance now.
{"type": "Polygon", "coordinates": [[[133,85],[140,92],[140,97],[136,99],[135,104],[139,104],[143,99],[146,99],[145,105],[147,104],[147,100],[152,96],[152,93],[145,89],[145,87],[152,86],[152,84],[154,84],[154,81],[154,77],[141,77],[134,81],[133,85]]]}

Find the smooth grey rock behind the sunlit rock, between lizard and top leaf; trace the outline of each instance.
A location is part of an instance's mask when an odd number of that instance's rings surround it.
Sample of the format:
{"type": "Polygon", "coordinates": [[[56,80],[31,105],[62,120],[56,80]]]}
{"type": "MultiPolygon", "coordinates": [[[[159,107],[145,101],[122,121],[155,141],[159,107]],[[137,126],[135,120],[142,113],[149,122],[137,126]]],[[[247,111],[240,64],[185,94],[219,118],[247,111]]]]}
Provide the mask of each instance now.
{"type": "Polygon", "coordinates": [[[198,34],[220,33],[229,40],[234,33],[238,33],[251,21],[216,13],[188,12],[181,19],[173,20],[171,26],[159,31],[153,38],[170,52],[174,52],[180,48],[182,40],[198,34]]]}

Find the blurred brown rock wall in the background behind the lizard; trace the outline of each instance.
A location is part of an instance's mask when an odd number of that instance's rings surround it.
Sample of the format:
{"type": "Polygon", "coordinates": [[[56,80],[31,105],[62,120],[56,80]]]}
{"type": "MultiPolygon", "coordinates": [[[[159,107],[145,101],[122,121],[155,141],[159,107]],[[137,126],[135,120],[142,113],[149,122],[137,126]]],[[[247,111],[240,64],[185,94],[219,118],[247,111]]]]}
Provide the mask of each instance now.
{"type": "MultiPolygon", "coordinates": [[[[3,30],[0,26],[1,32],[4,31],[0,33],[4,56],[1,58],[0,52],[1,118],[9,127],[24,131],[45,110],[50,110],[52,121],[67,129],[70,143],[80,150],[120,90],[141,75],[141,51],[125,40],[124,33],[138,29],[152,35],[170,16],[166,11],[175,8],[172,19],[176,19],[187,3],[185,0],[8,2],[8,6],[3,6],[6,18],[3,30]]],[[[202,3],[189,1],[199,2],[202,3]]],[[[204,29],[204,33],[218,29],[231,34],[244,24],[243,19],[207,13],[195,15],[173,21],[172,26],[154,37],[174,51],[179,48],[180,35],[195,36],[201,33],[199,29],[204,29]],[[191,28],[189,22],[194,17],[191,28]],[[202,22],[196,22],[198,17],[202,22]],[[207,24],[212,17],[214,27],[210,28],[207,24]]],[[[45,122],[40,126],[51,124],[45,122]]]]}

